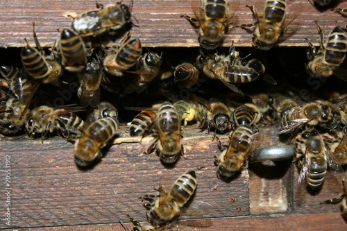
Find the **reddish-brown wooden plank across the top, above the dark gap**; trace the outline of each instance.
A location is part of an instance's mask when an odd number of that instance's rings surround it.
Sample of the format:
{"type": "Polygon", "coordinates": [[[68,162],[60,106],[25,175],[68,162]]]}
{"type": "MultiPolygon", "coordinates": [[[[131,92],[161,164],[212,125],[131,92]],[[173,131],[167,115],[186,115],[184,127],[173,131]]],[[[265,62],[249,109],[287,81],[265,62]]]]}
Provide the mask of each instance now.
{"type": "MultiPolygon", "coordinates": [[[[235,3],[235,1],[230,2],[235,3]]],[[[318,10],[307,0],[296,2],[302,3],[303,10],[287,27],[288,31],[280,46],[307,46],[305,37],[309,37],[314,44],[317,44],[319,35],[313,22],[315,19],[321,24],[325,33],[330,33],[335,21],[341,25],[346,24],[346,18],[330,9],[318,10]]],[[[111,2],[101,1],[101,3],[106,5],[111,2]]],[[[132,35],[139,37],[143,46],[198,46],[196,30],[186,19],[180,17],[185,14],[194,15],[189,1],[134,0],[133,3],[133,15],[138,21],[138,27],[133,27],[132,35]]],[[[240,0],[239,3],[233,20],[234,22],[236,20],[235,24],[255,22],[251,10],[245,7],[250,1],[240,0]]],[[[37,35],[42,45],[52,46],[58,37],[57,30],[71,26],[71,18],[66,15],[81,14],[94,9],[94,0],[3,0],[0,3],[0,47],[24,46],[25,37],[33,44],[33,22],[37,25],[37,35]]],[[[242,28],[230,28],[223,46],[230,46],[232,41],[235,46],[251,46],[252,35],[242,28]]]]}

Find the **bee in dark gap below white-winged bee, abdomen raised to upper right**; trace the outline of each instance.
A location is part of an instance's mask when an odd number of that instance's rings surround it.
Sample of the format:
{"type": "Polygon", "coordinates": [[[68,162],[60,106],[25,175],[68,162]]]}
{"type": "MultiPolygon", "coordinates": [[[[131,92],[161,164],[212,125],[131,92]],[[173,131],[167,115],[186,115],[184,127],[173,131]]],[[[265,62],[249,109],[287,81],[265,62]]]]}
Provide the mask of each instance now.
{"type": "Polygon", "coordinates": [[[107,51],[103,58],[103,67],[112,76],[122,76],[124,70],[133,67],[142,53],[139,39],[130,40],[130,34],[126,35],[116,47],[107,51]]]}

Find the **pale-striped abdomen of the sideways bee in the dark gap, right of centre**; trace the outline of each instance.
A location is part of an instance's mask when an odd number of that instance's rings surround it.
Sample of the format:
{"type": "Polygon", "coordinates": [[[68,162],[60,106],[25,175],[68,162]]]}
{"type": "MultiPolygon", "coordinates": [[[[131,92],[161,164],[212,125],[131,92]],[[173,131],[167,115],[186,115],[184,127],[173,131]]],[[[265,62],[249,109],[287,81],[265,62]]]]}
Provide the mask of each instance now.
{"type": "Polygon", "coordinates": [[[234,65],[226,69],[228,83],[249,83],[256,80],[259,74],[254,69],[234,65]]]}

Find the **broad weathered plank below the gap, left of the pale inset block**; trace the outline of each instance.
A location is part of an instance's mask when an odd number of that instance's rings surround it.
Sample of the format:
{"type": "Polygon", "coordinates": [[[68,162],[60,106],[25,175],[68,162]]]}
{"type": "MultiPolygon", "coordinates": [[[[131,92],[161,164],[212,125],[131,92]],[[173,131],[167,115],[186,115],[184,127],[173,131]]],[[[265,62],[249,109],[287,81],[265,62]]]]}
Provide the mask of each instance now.
{"type": "MultiPolygon", "coordinates": [[[[123,130],[123,129],[120,129],[123,130]]],[[[128,221],[130,214],[146,221],[146,209],[140,196],[153,194],[161,176],[176,180],[185,171],[195,170],[198,188],[192,198],[210,203],[213,209],[203,216],[220,218],[247,216],[249,212],[248,171],[231,182],[217,179],[214,155],[220,151],[211,135],[189,137],[183,145],[185,157],[174,168],[163,166],[158,156],[144,155],[151,137],[142,144],[121,144],[110,148],[107,155],[92,169],[83,171],[74,163],[73,144],[60,139],[25,141],[1,139],[1,166],[6,155],[11,163],[12,228],[58,225],[87,225],[128,221]],[[230,198],[234,198],[231,200],[230,198]]],[[[4,176],[4,168],[0,174],[4,176]]],[[[1,189],[5,187],[1,181],[1,189]]],[[[6,196],[1,194],[1,200],[6,196]]],[[[5,205],[0,205],[4,211],[5,205]]],[[[6,228],[1,223],[0,228],[6,228]]]]}

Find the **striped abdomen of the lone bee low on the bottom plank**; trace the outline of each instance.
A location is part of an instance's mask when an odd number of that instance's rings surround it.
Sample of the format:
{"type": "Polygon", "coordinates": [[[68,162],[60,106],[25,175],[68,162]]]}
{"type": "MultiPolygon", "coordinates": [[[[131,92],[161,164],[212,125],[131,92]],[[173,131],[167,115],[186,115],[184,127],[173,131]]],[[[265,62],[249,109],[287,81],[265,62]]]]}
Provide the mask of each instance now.
{"type": "Polygon", "coordinates": [[[189,171],[178,180],[176,180],[174,187],[170,191],[170,195],[174,198],[178,206],[183,207],[189,198],[194,194],[196,189],[196,175],[195,171],[189,171]]]}

